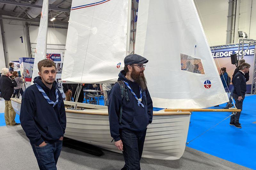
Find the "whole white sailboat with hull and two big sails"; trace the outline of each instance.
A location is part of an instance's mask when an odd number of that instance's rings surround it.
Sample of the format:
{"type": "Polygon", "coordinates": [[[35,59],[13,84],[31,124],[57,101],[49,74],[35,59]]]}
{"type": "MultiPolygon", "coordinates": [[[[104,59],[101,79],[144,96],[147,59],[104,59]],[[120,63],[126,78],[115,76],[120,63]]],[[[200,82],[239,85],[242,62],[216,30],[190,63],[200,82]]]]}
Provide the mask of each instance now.
{"type": "MultiPolygon", "coordinates": [[[[64,83],[117,81],[130,50],[131,3],[72,1],[61,77],[64,83]]],[[[176,160],[185,150],[191,111],[175,108],[206,108],[227,102],[228,96],[193,0],[140,1],[137,22],[135,53],[149,60],[144,73],[153,105],[173,109],[153,112],[142,157],[176,160]]],[[[11,100],[19,113],[20,100],[11,100]]],[[[107,106],[76,104],[84,110],[66,109],[64,136],[120,152],[111,143],[107,106]]]]}

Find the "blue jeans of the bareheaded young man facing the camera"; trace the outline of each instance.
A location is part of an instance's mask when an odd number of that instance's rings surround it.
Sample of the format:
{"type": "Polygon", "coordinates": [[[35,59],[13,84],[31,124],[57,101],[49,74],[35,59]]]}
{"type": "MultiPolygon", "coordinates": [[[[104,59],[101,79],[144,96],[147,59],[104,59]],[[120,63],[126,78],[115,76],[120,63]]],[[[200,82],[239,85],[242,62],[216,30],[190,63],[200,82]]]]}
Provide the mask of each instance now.
{"type": "Polygon", "coordinates": [[[56,164],[60,156],[62,141],[55,143],[46,143],[45,146],[39,147],[30,142],[40,170],[57,170],[56,164]]]}

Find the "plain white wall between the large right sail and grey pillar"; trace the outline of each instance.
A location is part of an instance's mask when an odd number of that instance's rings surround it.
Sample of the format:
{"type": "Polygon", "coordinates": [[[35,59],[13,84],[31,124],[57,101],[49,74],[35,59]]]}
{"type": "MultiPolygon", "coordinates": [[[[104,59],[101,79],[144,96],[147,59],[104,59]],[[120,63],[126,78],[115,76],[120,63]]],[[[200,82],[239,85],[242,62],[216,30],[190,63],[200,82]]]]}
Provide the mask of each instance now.
{"type": "Polygon", "coordinates": [[[209,46],[226,44],[228,0],[194,0],[209,46]]]}

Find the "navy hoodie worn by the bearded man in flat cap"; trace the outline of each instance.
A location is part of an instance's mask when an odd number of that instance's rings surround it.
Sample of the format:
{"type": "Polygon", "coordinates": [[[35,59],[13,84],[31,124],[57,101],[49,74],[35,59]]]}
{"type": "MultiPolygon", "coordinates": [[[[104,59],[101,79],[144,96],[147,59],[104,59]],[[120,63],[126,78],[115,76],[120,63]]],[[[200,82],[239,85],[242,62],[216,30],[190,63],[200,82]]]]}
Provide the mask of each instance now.
{"type": "MultiPolygon", "coordinates": [[[[134,88],[133,91],[135,92],[135,94],[136,91],[139,92],[139,86],[137,86],[137,89],[135,89],[135,87],[132,87],[132,84],[134,84],[134,82],[131,82],[125,78],[124,70],[122,70],[118,76],[118,80],[126,81],[132,89],[134,88]]],[[[116,83],[109,92],[108,116],[110,133],[111,137],[114,138],[115,141],[120,140],[120,131],[145,131],[148,124],[152,122],[153,117],[153,103],[148,90],[142,92],[143,95],[141,103],[145,106],[145,108],[143,108],[141,105],[138,106],[137,100],[132,95],[131,91],[126,85],[125,88],[128,92],[129,101],[126,101],[125,97],[122,101],[120,86],[118,83],[116,83]],[[145,97],[147,97],[147,103],[145,97]],[[121,103],[123,103],[123,112],[122,122],[121,124],[119,124],[121,103]]],[[[136,96],[139,97],[139,94],[136,94],[136,96]]]]}

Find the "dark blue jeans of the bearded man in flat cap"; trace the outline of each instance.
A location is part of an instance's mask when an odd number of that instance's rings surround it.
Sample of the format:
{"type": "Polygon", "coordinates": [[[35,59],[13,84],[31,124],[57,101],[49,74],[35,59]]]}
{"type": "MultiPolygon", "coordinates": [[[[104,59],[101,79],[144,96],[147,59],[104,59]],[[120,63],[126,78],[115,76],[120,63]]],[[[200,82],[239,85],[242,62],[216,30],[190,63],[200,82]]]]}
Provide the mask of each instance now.
{"type": "Polygon", "coordinates": [[[122,131],[120,138],[123,142],[124,169],[140,170],[140,158],[143,151],[147,129],[143,132],[122,131]]]}

